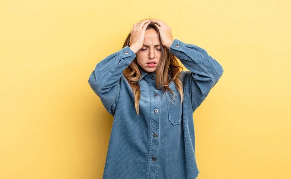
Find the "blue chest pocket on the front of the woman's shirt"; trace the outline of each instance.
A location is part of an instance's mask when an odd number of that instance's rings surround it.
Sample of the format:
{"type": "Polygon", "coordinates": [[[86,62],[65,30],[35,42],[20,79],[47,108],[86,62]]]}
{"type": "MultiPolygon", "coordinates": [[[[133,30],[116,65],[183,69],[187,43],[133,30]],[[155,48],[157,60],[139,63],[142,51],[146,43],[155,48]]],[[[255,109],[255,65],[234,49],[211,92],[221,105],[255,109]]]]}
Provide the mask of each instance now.
{"type": "MultiPolygon", "coordinates": [[[[173,88],[171,88],[173,89],[173,88]]],[[[174,90],[175,99],[173,100],[173,94],[167,91],[167,105],[168,105],[168,114],[169,120],[173,125],[178,125],[182,121],[182,104],[181,97],[178,90],[174,90]]]]}

